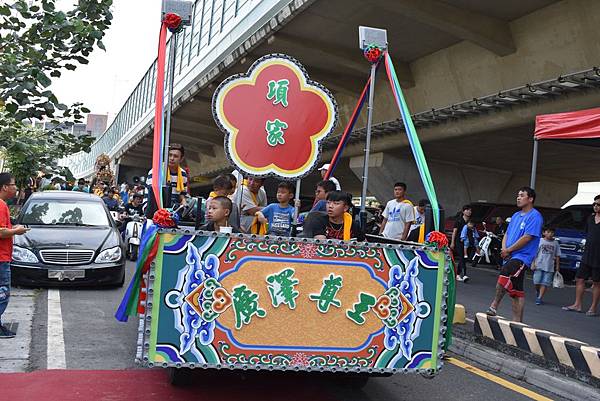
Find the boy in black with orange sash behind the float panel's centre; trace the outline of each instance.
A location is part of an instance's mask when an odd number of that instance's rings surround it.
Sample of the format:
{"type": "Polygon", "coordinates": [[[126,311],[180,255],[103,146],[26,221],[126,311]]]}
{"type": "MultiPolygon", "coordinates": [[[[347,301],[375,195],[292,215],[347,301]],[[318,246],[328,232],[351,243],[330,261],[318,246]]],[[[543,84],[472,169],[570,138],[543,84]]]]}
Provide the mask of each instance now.
{"type": "Polygon", "coordinates": [[[327,194],[327,212],[311,212],[304,221],[303,236],[315,239],[339,239],[364,241],[365,234],[352,219],[348,210],[352,207],[350,194],[331,191],[327,194]]]}

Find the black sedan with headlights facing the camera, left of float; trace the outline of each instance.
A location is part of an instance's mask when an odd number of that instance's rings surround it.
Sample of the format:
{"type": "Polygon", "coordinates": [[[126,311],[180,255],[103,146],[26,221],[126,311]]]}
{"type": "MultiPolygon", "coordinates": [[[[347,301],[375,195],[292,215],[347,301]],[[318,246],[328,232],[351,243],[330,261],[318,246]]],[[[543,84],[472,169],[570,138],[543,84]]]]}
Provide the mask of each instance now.
{"type": "Polygon", "coordinates": [[[102,199],[70,191],[34,193],[17,224],[12,277],[23,285],[116,285],[125,280],[125,248],[102,199]]]}

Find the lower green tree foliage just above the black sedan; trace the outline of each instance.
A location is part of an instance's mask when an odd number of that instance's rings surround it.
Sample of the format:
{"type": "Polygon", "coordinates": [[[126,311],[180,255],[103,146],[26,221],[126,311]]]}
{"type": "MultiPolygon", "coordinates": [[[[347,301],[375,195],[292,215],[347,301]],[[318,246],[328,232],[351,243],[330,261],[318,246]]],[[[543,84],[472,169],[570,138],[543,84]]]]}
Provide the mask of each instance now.
{"type": "Polygon", "coordinates": [[[19,187],[38,171],[73,180],[73,174],[59,167],[57,160],[79,151],[89,152],[93,141],[90,135],[77,137],[59,129],[48,132],[27,126],[0,111],[0,148],[19,187]]]}

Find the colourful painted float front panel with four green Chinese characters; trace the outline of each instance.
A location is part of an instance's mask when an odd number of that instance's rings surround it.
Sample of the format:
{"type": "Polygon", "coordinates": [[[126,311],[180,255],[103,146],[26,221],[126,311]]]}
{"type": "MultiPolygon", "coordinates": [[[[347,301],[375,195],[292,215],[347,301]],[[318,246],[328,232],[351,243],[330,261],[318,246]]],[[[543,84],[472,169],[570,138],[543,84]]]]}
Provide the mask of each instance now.
{"type": "Polygon", "coordinates": [[[147,366],[435,373],[445,253],[384,245],[159,232],[147,366]]]}

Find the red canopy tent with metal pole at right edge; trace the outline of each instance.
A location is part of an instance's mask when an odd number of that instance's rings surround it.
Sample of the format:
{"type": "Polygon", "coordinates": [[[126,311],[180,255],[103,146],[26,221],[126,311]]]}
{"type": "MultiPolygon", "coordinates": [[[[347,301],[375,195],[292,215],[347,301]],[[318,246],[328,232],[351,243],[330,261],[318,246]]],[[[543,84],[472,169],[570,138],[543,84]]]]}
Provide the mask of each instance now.
{"type": "Polygon", "coordinates": [[[536,116],[533,138],[531,188],[535,187],[539,141],[546,139],[575,140],[577,143],[597,145],[594,140],[600,139],[600,107],[536,116]]]}

